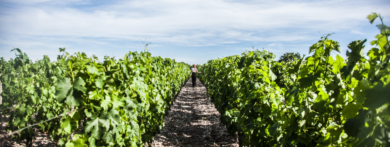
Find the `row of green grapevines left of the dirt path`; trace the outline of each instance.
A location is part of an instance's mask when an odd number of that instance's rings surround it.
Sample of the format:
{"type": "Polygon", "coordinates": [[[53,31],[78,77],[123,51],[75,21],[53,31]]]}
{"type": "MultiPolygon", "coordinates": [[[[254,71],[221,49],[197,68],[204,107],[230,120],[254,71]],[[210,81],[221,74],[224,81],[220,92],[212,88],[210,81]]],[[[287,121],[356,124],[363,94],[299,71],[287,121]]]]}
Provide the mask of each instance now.
{"type": "Polygon", "coordinates": [[[188,64],[129,52],[103,62],[84,53],[45,57],[35,63],[14,49],[16,58],[0,60],[2,108],[8,131],[53,119],[21,132],[48,133],[61,146],[143,146],[161,130],[163,117],[188,80],[188,64]]]}

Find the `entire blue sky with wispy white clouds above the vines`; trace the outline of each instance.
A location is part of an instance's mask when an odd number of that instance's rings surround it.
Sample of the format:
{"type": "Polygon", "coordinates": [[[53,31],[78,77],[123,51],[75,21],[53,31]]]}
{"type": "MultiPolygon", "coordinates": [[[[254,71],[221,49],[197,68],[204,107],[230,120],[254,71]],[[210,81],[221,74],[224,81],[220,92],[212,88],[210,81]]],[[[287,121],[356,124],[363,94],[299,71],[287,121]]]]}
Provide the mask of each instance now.
{"type": "MultiPolygon", "coordinates": [[[[390,25],[389,0],[0,0],[0,57],[20,48],[52,61],[66,48],[103,60],[144,51],[188,64],[259,48],[308,54],[323,34],[347,45],[379,33],[371,12],[390,25]]],[[[335,55],[335,54],[332,54],[335,55]]]]}

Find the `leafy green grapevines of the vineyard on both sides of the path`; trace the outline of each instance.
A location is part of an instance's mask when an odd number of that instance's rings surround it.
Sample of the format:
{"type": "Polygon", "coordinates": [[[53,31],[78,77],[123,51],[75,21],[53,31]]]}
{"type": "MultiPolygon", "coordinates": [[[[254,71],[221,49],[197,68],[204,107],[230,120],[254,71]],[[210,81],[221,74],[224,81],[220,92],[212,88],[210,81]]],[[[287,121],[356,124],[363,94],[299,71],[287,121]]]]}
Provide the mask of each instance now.
{"type": "MultiPolygon", "coordinates": [[[[275,61],[253,48],[197,65],[198,78],[239,146],[388,146],[390,27],[376,13],[367,18],[378,17],[380,34],[366,56],[367,40],[356,40],[346,59],[333,58],[340,45],[327,34],[308,57],[275,61]]],[[[54,62],[32,62],[18,48],[14,59],[1,58],[0,109],[9,120],[1,144],[31,147],[39,132],[62,147],[151,146],[190,75],[190,65],[149,52],[99,61],[59,50],[54,62]]]]}

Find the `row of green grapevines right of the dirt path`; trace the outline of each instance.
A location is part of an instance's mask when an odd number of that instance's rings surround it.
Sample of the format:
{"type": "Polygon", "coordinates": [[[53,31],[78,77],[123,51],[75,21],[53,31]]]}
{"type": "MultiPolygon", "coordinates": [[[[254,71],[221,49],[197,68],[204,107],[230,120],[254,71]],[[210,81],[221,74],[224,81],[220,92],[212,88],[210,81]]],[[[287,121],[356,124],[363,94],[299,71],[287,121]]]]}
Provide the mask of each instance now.
{"type": "MultiPolygon", "coordinates": [[[[371,23],[377,17],[368,16],[371,23]]],[[[208,61],[199,79],[244,146],[388,146],[389,27],[382,22],[378,28],[371,42],[378,48],[368,59],[366,40],[350,43],[346,60],[333,59],[340,46],[327,35],[310,47],[309,57],[285,63],[266,51],[248,51],[208,61]]]]}

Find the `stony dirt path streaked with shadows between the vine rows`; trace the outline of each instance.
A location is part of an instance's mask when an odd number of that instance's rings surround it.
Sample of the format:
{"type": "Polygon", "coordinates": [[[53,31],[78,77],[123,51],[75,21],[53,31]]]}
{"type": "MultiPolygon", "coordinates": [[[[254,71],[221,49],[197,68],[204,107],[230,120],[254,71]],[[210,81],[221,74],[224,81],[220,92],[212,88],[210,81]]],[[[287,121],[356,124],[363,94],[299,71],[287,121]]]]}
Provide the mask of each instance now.
{"type": "Polygon", "coordinates": [[[206,88],[199,79],[192,87],[190,79],[165,116],[165,126],[154,136],[152,147],[238,147],[219,118],[206,88]]]}

